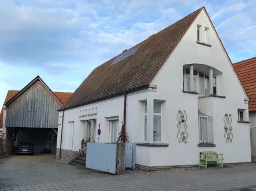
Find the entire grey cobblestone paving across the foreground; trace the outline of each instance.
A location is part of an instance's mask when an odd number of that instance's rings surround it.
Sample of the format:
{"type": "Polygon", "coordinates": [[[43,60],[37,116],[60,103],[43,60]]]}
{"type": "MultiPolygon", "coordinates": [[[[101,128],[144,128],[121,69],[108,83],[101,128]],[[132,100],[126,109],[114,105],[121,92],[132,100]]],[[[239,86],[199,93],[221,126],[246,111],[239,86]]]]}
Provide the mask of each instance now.
{"type": "Polygon", "coordinates": [[[54,161],[52,155],[0,159],[0,190],[256,190],[255,163],[117,176],[54,161]]]}

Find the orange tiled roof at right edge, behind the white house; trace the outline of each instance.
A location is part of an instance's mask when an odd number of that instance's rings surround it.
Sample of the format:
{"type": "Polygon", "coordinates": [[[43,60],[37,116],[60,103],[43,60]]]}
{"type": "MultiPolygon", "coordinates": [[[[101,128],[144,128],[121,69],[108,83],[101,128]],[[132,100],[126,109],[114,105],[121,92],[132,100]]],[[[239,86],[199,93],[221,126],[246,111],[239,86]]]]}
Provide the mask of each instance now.
{"type": "Polygon", "coordinates": [[[233,64],[236,74],[249,97],[249,110],[256,111],[256,57],[233,64]]]}

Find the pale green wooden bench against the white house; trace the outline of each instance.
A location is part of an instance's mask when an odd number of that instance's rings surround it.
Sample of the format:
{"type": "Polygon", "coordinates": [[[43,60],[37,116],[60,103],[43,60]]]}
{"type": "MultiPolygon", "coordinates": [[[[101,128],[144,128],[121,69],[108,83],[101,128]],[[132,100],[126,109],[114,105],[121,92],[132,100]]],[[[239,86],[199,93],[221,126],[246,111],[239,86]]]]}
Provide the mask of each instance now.
{"type": "Polygon", "coordinates": [[[223,167],[223,153],[222,154],[217,154],[217,152],[213,152],[213,151],[203,151],[200,152],[199,154],[199,167],[203,166],[205,168],[207,168],[207,162],[216,162],[215,166],[217,165],[221,165],[221,167],[223,167]],[[204,161],[205,164],[201,164],[201,162],[204,161]],[[218,163],[218,161],[221,161],[221,163],[218,163]]]}

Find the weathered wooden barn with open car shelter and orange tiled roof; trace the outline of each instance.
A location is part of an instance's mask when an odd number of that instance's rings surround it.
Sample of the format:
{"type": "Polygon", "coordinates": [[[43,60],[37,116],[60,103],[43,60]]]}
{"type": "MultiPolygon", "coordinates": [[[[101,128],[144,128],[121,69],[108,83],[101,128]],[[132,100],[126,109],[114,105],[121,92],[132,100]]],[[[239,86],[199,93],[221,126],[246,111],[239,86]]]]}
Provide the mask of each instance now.
{"type": "Polygon", "coordinates": [[[32,142],[34,153],[56,152],[57,110],[71,95],[51,91],[39,76],[20,91],[8,91],[0,113],[3,151],[11,154],[17,144],[32,142]]]}

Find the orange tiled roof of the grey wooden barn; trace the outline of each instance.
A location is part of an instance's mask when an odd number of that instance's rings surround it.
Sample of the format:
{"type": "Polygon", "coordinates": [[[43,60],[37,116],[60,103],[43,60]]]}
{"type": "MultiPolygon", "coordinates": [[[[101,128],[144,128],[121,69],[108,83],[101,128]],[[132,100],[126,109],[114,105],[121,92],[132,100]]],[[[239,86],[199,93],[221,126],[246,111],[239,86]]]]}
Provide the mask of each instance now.
{"type": "MultiPolygon", "coordinates": [[[[43,82],[43,80],[39,76],[37,76],[31,82],[29,82],[28,85],[25,86],[22,90],[20,90],[20,91],[18,91],[18,90],[9,90],[7,95],[6,95],[5,102],[3,102],[3,104],[6,105],[6,104],[9,104],[10,102],[12,102],[16,97],[20,96],[20,94],[22,94],[28,87],[30,87],[37,80],[40,80],[40,81],[43,82]]],[[[51,91],[51,89],[46,85],[46,83],[44,83],[44,85],[51,91]]],[[[60,100],[60,102],[62,104],[65,104],[65,102],[73,94],[71,92],[58,92],[58,91],[51,91],[51,92],[53,92],[54,96],[58,100],[60,100]]],[[[3,108],[1,109],[1,112],[0,112],[0,128],[2,128],[2,124],[3,124],[3,108]]]]}

